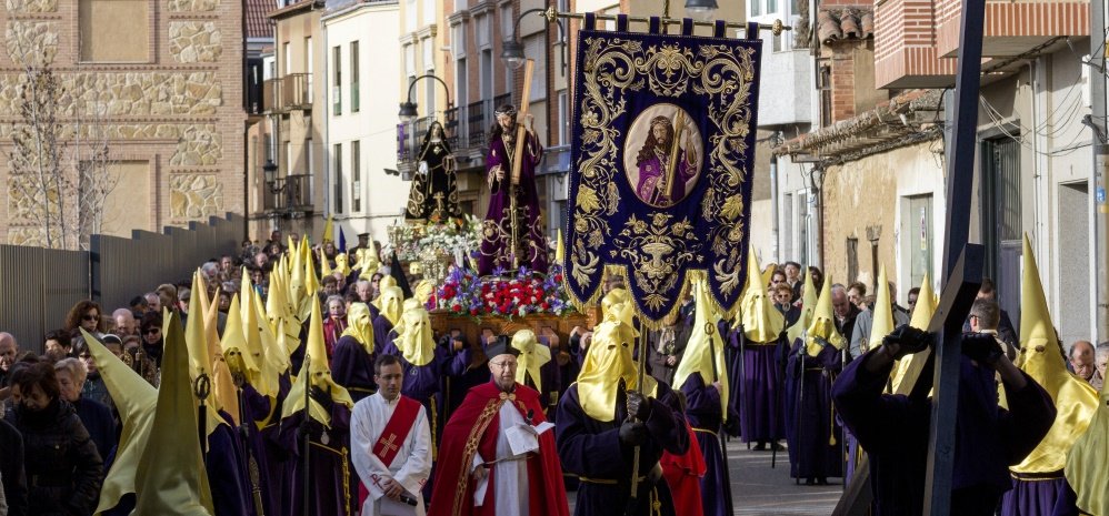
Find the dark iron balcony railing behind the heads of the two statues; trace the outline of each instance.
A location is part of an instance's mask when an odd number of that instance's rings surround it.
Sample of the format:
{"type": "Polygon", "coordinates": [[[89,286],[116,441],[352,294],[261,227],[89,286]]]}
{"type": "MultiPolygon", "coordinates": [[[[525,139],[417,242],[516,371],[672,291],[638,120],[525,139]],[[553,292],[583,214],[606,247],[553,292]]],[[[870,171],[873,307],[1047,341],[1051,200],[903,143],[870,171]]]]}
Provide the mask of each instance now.
{"type": "MultiPolygon", "coordinates": [[[[468,163],[482,163],[489,128],[497,121],[493,111],[498,105],[511,101],[512,95],[506,93],[443,111],[440,123],[460,168],[468,163]]],[[[401,173],[407,174],[416,169],[420,144],[434,120],[432,117],[423,117],[397,124],[397,165],[401,173]]]]}

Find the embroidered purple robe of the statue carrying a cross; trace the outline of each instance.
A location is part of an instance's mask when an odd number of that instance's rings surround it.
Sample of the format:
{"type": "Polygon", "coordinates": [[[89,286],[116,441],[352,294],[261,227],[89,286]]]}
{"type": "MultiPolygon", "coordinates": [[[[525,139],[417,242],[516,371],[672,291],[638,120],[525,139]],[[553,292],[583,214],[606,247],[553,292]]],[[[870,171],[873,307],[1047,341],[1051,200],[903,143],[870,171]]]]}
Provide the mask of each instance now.
{"type": "MultiPolygon", "coordinates": [[[[543,154],[543,146],[534,133],[527,133],[523,159],[520,161],[520,182],[516,185],[517,208],[517,261],[531,271],[547,272],[547,237],[539,213],[539,193],[536,190],[536,166],[543,154]]],[[[490,175],[491,188],[489,211],[481,226],[481,247],[478,256],[478,274],[484,276],[493,271],[512,270],[512,211],[509,184],[511,182],[512,152],[507,149],[503,136],[493,140],[486,156],[486,172],[490,175]],[[492,170],[500,166],[504,179],[497,181],[492,170]]]]}

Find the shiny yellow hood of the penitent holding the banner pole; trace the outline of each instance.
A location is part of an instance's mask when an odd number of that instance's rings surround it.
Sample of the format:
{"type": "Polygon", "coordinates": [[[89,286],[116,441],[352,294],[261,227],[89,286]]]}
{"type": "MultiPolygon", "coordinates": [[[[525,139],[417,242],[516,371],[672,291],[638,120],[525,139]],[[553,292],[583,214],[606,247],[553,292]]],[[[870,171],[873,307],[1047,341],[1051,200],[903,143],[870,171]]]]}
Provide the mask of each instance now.
{"type": "Polygon", "coordinates": [[[638,388],[636,362],[632,360],[636,332],[621,320],[621,312],[608,312],[605,321],[593,330],[592,344],[578,373],[581,408],[589,417],[600,422],[610,422],[616,417],[616,398],[621,381],[626,388],[641,391],[647,396],[656,396],[658,389],[658,384],[647,374],[643,375],[643,388],[638,388]]]}

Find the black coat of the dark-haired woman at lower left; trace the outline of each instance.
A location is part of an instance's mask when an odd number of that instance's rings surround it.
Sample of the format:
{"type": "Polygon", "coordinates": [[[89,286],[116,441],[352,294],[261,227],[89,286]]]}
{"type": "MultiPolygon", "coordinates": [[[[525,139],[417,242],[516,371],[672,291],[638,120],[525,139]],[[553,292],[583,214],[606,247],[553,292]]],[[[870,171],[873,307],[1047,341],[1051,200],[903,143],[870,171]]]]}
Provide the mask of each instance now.
{"type": "Polygon", "coordinates": [[[28,514],[91,515],[103,483],[103,462],[73,406],[54,399],[39,413],[14,408],[8,422],[23,436],[28,514]]]}

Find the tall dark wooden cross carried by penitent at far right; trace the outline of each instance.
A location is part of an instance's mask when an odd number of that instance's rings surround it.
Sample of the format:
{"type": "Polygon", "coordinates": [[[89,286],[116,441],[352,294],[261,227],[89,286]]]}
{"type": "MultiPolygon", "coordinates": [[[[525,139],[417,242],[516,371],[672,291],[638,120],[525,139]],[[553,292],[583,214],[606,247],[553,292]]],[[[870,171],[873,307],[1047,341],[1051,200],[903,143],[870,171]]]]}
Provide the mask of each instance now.
{"type": "MultiPolygon", "coordinates": [[[[948,148],[947,183],[947,240],[943,242],[943,296],[928,325],[939,340],[936,356],[907,372],[898,388],[899,394],[932,396],[932,424],[928,438],[928,469],[925,475],[923,514],[948,516],[951,512],[951,476],[955,465],[955,419],[959,393],[959,357],[962,353],[962,323],[967,320],[982,281],[981,245],[968,244],[970,233],[970,203],[973,189],[975,145],[978,130],[978,95],[982,71],[982,26],[986,19],[985,0],[962,0],[962,19],[959,29],[959,72],[955,81],[955,121],[948,148]],[[940,333],[942,332],[942,333],[940,333]],[[928,377],[933,368],[932,383],[917,382],[928,377]]],[[[862,515],[869,508],[871,496],[869,466],[865,463],[856,471],[851,486],[840,498],[833,515],[862,515]]]]}

